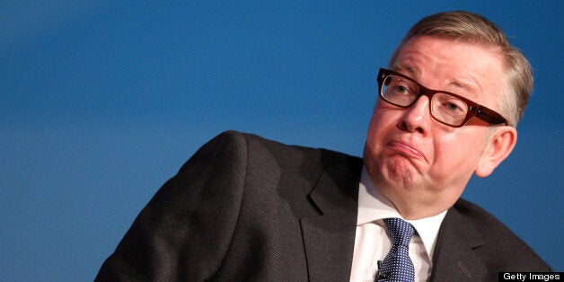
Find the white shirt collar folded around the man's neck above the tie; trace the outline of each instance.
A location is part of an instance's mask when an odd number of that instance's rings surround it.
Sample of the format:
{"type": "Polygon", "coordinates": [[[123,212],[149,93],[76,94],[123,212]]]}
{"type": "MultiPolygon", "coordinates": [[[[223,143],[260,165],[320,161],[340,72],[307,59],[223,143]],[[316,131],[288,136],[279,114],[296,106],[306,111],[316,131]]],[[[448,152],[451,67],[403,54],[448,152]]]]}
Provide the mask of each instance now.
{"type": "Polygon", "coordinates": [[[366,168],[362,169],[360,183],[358,185],[358,216],[357,225],[375,222],[383,226],[383,218],[398,217],[409,222],[417,232],[425,246],[425,251],[430,259],[435,251],[436,237],[446,216],[446,210],[436,216],[421,218],[418,220],[407,220],[403,218],[398,210],[393,207],[392,202],[385,198],[374,183],[370,180],[366,168]]]}

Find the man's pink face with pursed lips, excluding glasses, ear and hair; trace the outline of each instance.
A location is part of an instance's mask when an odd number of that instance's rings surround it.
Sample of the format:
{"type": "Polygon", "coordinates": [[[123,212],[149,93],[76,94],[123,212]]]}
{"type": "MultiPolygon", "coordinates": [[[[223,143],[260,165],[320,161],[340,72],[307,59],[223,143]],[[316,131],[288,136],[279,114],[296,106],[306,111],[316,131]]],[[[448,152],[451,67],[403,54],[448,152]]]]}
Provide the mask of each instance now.
{"type": "MultiPolygon", "coordinates": [[[[427,88],[498,110],[502,61],[486,48],[419,37],[401,48],[391,67],[427,88]]],[[[488,124],[480,119],[472,118],[462,128],[439,123],[431,117],[425,96],[408,109],[379,98],[368,128],[366,169],[401,213],[406,208],[447,208],[476,170],[488,133],[488,124]]],[[[427,216],[434,214],[429,212],[427,216]]]]}

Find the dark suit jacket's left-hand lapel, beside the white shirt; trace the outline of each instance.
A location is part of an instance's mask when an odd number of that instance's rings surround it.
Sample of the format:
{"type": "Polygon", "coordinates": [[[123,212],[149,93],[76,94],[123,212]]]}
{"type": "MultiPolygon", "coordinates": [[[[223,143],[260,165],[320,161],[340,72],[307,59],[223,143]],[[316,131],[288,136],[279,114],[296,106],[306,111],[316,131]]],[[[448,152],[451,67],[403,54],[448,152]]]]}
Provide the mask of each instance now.
{"type": "Polygon", "coordinates": [[[327,168],[310,194],[321,213],[300,221],[310,281],[350,279],[361,168],[362,162],[327,168]]]}

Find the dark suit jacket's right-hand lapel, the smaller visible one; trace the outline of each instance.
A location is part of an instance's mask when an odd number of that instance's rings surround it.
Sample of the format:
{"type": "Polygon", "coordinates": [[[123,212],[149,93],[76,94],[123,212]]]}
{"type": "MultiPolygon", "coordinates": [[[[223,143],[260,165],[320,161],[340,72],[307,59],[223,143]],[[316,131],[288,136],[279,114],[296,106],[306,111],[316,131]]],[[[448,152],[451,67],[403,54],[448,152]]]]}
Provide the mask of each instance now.
{"type": "Polygon", "coordinates": [[[480,281],[486,267],[476,255],[485,241],[464,217],[451,208],[446,213],[436,242],[431,281],[480,281]]]}

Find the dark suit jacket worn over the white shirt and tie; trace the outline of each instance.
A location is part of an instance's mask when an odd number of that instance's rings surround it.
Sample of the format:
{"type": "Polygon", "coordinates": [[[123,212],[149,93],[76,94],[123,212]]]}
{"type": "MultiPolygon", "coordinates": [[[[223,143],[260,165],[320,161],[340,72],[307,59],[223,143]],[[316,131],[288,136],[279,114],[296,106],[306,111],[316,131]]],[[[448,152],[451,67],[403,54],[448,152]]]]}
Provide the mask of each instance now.
{"type": "MultiPolygon", "coordinates": [[[[348,281],[362,160],[225,132],[167,181],[98,280],[348,281]]],[[[446,214],[431,280],[549,271],[524,242],[463,199],[446,214]]]]}

